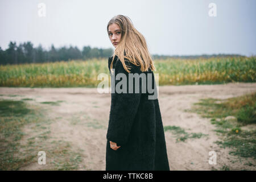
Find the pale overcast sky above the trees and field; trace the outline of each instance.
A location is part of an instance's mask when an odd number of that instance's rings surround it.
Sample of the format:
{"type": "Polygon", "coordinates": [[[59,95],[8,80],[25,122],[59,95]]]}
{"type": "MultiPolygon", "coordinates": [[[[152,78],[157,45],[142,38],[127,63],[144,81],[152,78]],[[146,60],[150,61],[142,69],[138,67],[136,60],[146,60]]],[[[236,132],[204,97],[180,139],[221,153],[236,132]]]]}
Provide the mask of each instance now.
{"type": "Polygon", "coordinates": [[[122,14],[146,38],[151,54],[251,56],[255,8],[255,0],[0,0],[0,46],[31,41],[44,49],[51,44],[114,49],[106,26],[122,14]],[[38,15],[39,3],[46,5],[46,16],[38,15]],[[210,3],[217,16],[209,16],[210,3]]]}

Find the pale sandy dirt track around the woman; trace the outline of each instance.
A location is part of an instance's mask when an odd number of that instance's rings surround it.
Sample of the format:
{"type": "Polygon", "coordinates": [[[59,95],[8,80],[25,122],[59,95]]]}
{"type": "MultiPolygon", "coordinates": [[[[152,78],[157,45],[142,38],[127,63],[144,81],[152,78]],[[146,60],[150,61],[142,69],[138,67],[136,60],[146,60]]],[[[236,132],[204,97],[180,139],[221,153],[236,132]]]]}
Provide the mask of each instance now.
{"type": "MultiPolygon", "coordinates": [[[[219,140],[219,136],[213,131],[216,128],[210,123],[210,119],[184,111],[191,109],[193,103],[201,98],[225,99],[251,92],[256,92],[255,83],[159,86],[158,100],[164,126],[180,126],[191,133],[208,134],[208,137],[176,143],[174,135],[166,131],[170,169],[220,170],[225,165],[233,170],[255,170],[255,167],[244,166],[235,156],[229,155],[229,148],[220,148],[213,143],[219,140]],[[209,164],[209,151],[216,152],[217,164],[209,164]]],[[[51,137],[69,141],[73,147],[83,150],[80,170],[105,170],[110,93],[100,94],[96,88],[0,88],[0,94],[17,94],[20,98],[32,98],[34,100],[28,102],[37,104],[44,101],[64,101],[60,102],[59,106],[41,104],[43,107],[49,107],[48,117],[53,119],[51,137]]],[[[17,98],[19,97],[15,97],[17,98]]],[[[251,163],[255,164],[255,160],[251,163]]],[[[22,168],[31,169],[40,168],[35,164],[22,168]]]]}

